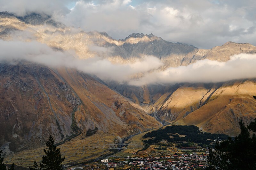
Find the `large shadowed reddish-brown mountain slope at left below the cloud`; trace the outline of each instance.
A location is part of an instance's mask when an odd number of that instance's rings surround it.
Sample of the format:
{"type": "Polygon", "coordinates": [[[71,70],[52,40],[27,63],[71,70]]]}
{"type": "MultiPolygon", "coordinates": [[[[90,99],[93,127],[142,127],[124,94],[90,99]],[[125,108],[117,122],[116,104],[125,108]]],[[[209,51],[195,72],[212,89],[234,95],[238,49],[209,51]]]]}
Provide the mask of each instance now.
{"type": "Polygon", "coordinates": [[[65,68],[1,63],[1,143],[17,151],[53,134],[57,141],[82,131],[126,137],[160,126],[140,106],[96,79],[65,68]]]}

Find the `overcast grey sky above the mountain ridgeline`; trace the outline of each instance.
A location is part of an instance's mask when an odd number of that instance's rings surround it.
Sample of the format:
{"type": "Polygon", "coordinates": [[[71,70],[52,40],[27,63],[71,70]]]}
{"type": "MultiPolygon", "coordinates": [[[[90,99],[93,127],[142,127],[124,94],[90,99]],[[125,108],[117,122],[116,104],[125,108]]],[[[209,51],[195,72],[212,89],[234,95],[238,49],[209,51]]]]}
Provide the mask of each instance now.
{"type": "Polygon", "coordinates": [[[1,0],[0,11],[52,15],[68,26],[115,39],[153,33],[166,41],[212,48],[227,41],[256,45],[254,0],[1,0]]]}

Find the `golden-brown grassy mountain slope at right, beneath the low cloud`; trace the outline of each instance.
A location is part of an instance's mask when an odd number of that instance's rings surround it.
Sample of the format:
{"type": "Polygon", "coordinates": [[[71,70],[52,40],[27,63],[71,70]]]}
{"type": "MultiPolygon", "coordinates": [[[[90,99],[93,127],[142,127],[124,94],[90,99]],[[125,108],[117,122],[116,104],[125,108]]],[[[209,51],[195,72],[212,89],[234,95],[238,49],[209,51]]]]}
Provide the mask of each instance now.
{"type": "Polygon", "coordinates": [[[246,124],[256,117],[256,84],[253,80],[236,81],[222,85],[207,103],[190,113],[179,123],[194,124],[208,132],[239,134],[238,122],[243,119],[246,124]]]}

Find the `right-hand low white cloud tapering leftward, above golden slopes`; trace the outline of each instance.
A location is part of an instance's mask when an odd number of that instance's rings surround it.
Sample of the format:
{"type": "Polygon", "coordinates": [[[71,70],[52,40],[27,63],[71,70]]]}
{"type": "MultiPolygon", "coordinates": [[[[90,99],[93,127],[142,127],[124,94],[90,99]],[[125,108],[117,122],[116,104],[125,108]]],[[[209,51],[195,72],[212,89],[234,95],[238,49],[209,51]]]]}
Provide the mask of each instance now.
{"type": "Polygon", "coordinates": [[[216,83],[234,79],[256,77],[256,55],[239,54],[230,57],[227,62],[199,60],[187,67],[168,68],[155,71],[139,79],[133,79],[130,85],[174,84],[174,83],[216,83]]]}

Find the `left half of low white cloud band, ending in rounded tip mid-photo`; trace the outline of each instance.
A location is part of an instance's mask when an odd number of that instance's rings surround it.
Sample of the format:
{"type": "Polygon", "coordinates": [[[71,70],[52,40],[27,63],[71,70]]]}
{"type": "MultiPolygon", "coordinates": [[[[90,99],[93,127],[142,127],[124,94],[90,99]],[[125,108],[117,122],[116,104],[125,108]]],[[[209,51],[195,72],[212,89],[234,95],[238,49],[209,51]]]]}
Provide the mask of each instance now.
{"type": "MultiPolygon", "coordinates": [[[[93,49],[105,51],[105,48],[93,49]]],[[[0,62],[12,62],[15,60],[27,60],[34,63],[44,64],[49,67],[65,66],[76,68],[84,73],[93,74],[105,80],[125,82],[129,76],[141,72],[158,69],[163,65],[154,56],[144,56],[142,60],[133,63],[113,64],[107,59],[94,57],[89,59],[78,59],[68,52],[55,51],[45,44],[37,41],[3,41],[0,40],[0,62]],[[152,64],[154,63],[154,64],[152,64]]]]}

